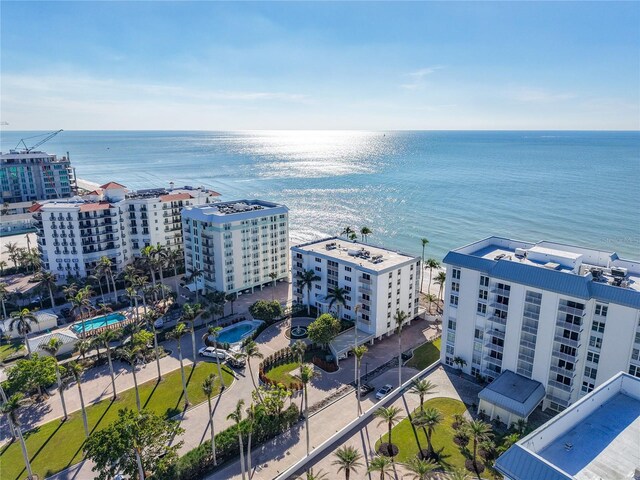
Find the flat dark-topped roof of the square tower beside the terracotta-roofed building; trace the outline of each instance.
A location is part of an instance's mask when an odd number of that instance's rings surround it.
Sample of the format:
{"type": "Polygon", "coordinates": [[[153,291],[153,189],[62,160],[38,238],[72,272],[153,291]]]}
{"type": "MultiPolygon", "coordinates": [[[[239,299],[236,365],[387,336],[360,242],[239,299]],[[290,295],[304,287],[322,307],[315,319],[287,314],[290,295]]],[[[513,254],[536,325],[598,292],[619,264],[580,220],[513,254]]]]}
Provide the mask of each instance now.
{"type": "Polygon", "coordinates": [[[264,200],[234,200],[189,206],[184,209],[184,214],[204,222],[231,222],[288,211],[289,209],[284,205],[264,200]]]}

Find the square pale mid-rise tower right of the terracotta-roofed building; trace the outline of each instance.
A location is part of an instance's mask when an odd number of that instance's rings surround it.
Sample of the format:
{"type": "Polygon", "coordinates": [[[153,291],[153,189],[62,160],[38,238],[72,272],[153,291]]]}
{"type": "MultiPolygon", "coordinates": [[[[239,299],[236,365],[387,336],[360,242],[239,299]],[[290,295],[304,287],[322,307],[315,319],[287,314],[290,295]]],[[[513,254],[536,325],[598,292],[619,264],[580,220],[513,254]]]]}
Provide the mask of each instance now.
{"type": "Polygon", "coordinates": [[[192,290],[251,291],[289,278],[289,209],[263,200],[234,200],[182,211],[192,290]]]}

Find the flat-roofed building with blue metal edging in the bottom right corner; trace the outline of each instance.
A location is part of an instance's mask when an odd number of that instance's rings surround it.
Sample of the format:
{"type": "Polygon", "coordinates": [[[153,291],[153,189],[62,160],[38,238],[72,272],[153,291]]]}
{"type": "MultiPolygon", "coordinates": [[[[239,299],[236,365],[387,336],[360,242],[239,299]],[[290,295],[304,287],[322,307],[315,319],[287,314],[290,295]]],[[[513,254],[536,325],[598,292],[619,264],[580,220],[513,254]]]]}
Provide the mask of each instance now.
{"type": "Polygon", "coordinates": [[[640,378],[619,372],[495,462],[506,480],[640,478],[640,378]]]}

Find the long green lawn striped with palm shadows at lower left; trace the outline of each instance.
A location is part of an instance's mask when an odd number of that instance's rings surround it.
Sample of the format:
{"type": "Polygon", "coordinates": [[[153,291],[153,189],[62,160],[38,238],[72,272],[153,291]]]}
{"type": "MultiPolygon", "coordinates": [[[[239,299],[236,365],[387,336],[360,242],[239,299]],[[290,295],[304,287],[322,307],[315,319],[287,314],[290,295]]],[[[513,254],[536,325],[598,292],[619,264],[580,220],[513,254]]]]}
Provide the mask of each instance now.
{"type": "MultiPolygon", "coordinates": [[[[202,381],[209,374],[217,374],[214,362],[200,362],[193,371],[192,366],[185,368],[188,385],[187,393],[191,405],[196,405],[206,400],[202,393],[202,381]]],[[[223,367],[222,376],[225,385],[231,385],[233,376],[226,366],[223,367]]],[[[216,394],[219,393],[219,384],[216,394]]],[[[74,384],[66,392],[67,396],[77,395],[78,390],[74,384]]],[[[180,370],[173,371],[164,376],[159,384],[150,381],[140,385],[140,401],[143,408],[152,410],[158,414],[172,416],[179,413],[183,406],[182,381],[180,370]]],[[[136,396],[133,389],[119,394],[116,402],[103,400],[87,408],[89,430],[100,430],[112,423],[121,408],[136,408],[136,396]]],[[[80,411],[74,412],[66,422],[54,420],[41,425],[25,433],[27,449],[31,456],[33,472],[40,478],[45,478],[55,472],[59,472],[82,459],[82,444],[84,443],[84,427],[80,411]]],[[[0,477],[3,480],[22,479],[26,477],[24,462],[19,442],[13,442],[0,451],[0,477]]]]}

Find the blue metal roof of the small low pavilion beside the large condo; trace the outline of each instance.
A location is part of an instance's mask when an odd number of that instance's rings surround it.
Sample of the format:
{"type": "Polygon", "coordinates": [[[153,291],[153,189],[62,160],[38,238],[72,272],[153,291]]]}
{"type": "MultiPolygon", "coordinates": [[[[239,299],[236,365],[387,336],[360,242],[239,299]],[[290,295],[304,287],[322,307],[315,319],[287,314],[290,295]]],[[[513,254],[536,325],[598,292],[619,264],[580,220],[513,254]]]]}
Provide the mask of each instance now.
{"type": "Polygon", "coordinates": [[[540,382],[505,370],[487,385],[478,397],[526,418],[544,398],[544,387],[540,382]]]}

